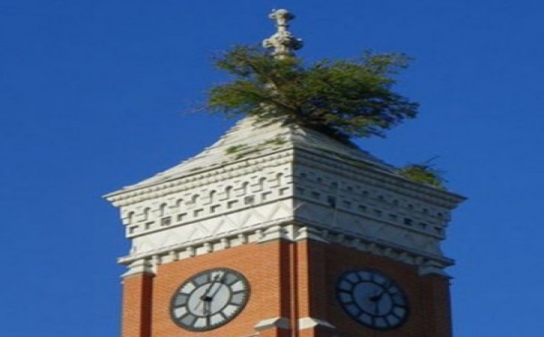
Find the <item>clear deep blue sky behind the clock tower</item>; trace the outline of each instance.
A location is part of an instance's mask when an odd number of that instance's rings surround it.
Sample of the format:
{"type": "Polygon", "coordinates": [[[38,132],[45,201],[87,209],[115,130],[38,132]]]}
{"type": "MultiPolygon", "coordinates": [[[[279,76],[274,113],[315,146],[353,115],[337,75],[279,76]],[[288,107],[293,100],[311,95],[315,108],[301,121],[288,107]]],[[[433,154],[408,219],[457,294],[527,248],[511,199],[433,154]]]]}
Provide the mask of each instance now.
{"type": "Polygon", "coordinates": [[[308,60],[415,58],[420,117],[358,140],[396,165],[439,156],[470,199],[444,245],[456,337],[541,337],[541,0],[0,0],[0,331],[117,336],[128,243],[101,196],[187,159],[233,124],[186,114],[223,79],[214,51],[298,15],[308,60]]]}

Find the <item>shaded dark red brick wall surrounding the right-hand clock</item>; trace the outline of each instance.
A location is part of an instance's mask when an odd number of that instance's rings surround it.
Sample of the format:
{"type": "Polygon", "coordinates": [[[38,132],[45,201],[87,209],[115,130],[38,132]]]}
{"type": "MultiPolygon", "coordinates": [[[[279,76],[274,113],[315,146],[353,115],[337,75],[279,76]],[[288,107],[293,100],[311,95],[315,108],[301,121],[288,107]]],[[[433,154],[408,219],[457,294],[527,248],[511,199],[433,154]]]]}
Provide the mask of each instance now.
{"type": "Polygon", "coordinates": [[[310,306],[315,318],[335,325],[346,336],[380,337],[450,337],[451,313],[449,280],[442,276],[420,276],[417,267],[385,257],[369,255],[343,246],[319,242],[301,243],[306,246],[310,261],[310,306]],[[356,323],[335,299],[337,277],[346,270],[374,268],[387,274],[399,284],[408,297],[410,315],[401,327],[377,332],[356,323]]]}

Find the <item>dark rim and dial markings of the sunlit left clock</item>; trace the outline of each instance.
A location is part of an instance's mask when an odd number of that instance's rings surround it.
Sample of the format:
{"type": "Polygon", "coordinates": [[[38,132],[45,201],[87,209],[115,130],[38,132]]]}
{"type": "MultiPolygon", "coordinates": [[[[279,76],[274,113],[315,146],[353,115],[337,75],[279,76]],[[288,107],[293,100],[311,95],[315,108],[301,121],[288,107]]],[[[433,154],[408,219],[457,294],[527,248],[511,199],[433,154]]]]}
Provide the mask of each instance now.
{"type": "MultiPolygon", "coordinates": [[[[209,284],[211,284],[212,282],[214,282],[214,281],[208,279],[204,284],[199,284],[195,289],[193,289],[193,291],[191,291],[191,293],[188,294],[189,295],[188,300],[187,300],[188,304],[186,306],[189,306],[190,294],[194,293],[194,290],[199,289],[200,287],[203,287],[203,286],[209,286],[209,284]]],[[[246,276],[244,276],[244,274],[241,274],[238,271],[230,269],[230,268],[223,268],[223,267],[209,268],[209,269],[203,270],[203,271],[201,271],[201,272],[199,272],[197,274],[193,274],[193,275],[189,276],[187,279],[185,279],[185,281],[183,281],[176,288],[176,291],[171,295],[171,298],[170,298],[170,307],[169,307],[170,319],[172,320],[173,323],[175,323],[176,325],[178,325],[180,328],[182,328],[184,330],[187,330],[187,331],[190,331],[190,332],[209,332],[209,331],[215,330],[215,329],[217,329],[217,328],[231,322],[236,317],[238,317],[238,314],[242,313],[244,311],[246,305],[248,304],[250,294],[251,294],[250,284],[249,284],[248,279],[246,278],[246,276]],[[236,311],[234,311],[234,313],[230,313],[225,318],[225,320],[223,322],[220,322],[220,323],[217,323],[217,324],[212,324],[212,325],[207,325],[205,327],[195,327],[193,325],[181,323],[179,317],[175,315],[176,307],[180,307],[180,306],[176,306],[175,303],[176,303],[176,300],[177,300],[178,296],[180,294],[182,294],[181,290],[185,286],[187,286],[188,284],[193,283],[194,280],[198,279],[199,277],[201,277],[204,274],[210,274],[211,275],[212,273],[218,273],[218,272],[223,272],[225,274],[235,275],[235,277],[237,278],[237,281],[232,283],[232,284],[228,284],[227,286],[229,288],[230,288],[230,285],[238,284],[239,281],[241,281],[242,284],[244,284],[243,293],[245,294],[245,296],[244,296],[243,302],[240,305],[238,305],[238,308],[236,309],[236,311]]],[[[220,311],[222,311],[225,307],[228,306],[229,303],[231,303],[232,297],[233,297],[232,296],[232,291],[230,291],[230,294],[228,295],[227,304],[225,306],[223,306],[220,309],[220,311]]],[[[225,315],[223,314],[223,316],[225,316],[225,315]]],[[[181,317],[183,317],[183,316],[181,316],[181,317]]]]}

